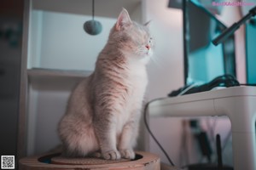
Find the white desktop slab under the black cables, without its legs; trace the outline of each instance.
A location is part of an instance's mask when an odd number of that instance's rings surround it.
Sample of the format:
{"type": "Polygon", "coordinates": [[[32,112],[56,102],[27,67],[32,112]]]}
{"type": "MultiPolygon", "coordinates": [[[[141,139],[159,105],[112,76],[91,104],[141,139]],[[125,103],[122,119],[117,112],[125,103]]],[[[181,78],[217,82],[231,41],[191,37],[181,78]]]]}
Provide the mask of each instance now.
{"type": "Polygon", "coordinates": [[[149,116],[223,116],[216,111],[216,100],[241,96],[256,97],[256,87],[237,86],[166,97],[148,105],[148,113],[149,116]],[[205,115],[202,115],[201,112],[204,112],[205,115]]]}

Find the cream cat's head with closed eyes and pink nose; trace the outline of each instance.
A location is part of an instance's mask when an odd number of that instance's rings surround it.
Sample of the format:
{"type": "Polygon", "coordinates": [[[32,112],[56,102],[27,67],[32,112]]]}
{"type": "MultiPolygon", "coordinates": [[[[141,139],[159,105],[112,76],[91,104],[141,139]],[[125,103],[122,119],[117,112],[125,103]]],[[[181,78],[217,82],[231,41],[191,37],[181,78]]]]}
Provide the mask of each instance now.
{"type": "Polygon", "coordinates": [[[149,58],[153,53],[154,40],[150,36],[148,23],[139,25],[132,21],[125,8],[119,14],[109,39],[118,43],[119,48],[127,57],[149,58]]]}

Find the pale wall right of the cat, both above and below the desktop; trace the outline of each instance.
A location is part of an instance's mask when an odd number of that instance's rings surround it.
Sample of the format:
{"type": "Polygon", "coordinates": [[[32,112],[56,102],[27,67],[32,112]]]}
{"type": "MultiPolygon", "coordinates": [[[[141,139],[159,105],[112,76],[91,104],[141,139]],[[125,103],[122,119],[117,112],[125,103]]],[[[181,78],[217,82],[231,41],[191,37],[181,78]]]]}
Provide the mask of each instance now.
{"type": "MultiPolygon", "coordinates": [[[[154,37],[154,60],[148,65],[147,99],[166,97],[172,90],[183,87],[183,24],[181,10],[167,8],[167,0],[147,0],[145,20],[152,20],[150,31],[154,37]]],[[[150,127],[173,161],[177,162],[182,131],[178,118],[154,118],[150,127]],[[172,130],[171,130],[172,129],[172,130]]],[[[166,161],[153,139],[149,151],[166,161]]]]}

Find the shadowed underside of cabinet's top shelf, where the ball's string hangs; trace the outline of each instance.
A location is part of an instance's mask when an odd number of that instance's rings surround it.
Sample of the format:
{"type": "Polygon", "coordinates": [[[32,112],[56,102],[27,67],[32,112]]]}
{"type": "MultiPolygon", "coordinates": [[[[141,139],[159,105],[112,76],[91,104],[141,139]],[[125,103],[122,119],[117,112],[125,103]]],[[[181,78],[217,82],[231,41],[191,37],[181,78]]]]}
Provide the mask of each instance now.
{"type": "MultiPolygon", "coordinates": [[[[117,18],[122,8],[133,12],[142,0],[100,0],[95,1],[96,16],[117,18]]],[[[69,14],[91,15],[91,0],[32,0],[32,8],[69,14]]]]}

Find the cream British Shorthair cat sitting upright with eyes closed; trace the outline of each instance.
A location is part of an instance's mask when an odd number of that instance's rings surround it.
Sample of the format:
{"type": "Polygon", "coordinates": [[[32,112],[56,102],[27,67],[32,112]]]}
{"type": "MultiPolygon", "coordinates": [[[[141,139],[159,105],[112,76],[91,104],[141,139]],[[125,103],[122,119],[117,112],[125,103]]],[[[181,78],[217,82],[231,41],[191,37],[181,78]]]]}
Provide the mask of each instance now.
{"type": "Polygon", "coordinates": [[[64,156],[135,158],[153,47],[148,23],[137,24],[123,8],[95,71],[74,88],[59,122],[64,156]]]}

